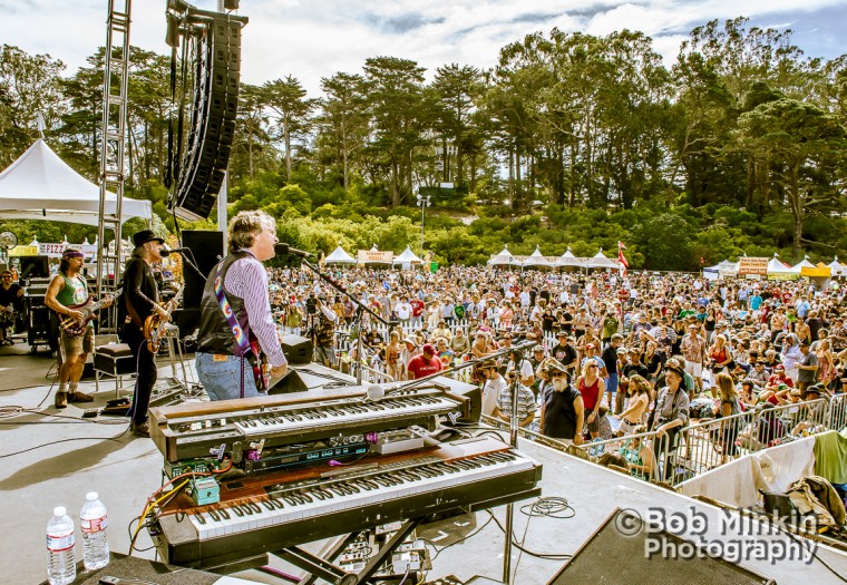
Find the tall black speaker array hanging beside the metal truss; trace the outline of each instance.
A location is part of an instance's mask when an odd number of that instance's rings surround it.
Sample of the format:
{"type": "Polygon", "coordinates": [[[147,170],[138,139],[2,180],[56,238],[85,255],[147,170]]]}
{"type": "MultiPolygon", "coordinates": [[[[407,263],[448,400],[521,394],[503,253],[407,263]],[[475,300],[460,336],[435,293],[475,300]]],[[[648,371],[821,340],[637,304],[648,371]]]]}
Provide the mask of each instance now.
{"type": "Polygon", "coordinates": [[[247,19],[173,0],[168,19],[179,23],[186,61],[182,81],[193,88],[185,139],[178,136],[182,156],[168,208],[183,220],[197,221],[212,213],[230,162],[238,111],[241,29],[247,19]]]}

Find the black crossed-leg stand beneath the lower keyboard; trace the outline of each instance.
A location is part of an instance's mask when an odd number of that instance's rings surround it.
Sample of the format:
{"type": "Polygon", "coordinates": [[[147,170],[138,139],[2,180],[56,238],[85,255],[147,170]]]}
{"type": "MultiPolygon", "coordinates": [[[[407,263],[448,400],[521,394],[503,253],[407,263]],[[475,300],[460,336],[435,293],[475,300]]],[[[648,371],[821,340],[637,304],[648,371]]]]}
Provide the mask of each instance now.
{"type": "Polygon", "coordinates": [[[360,533],[352,533],[342,538],[330,549],[327,558],[320,558],[303,550],[299,546],[283,548],[282,550],[274,553],[274,555],[309,573],[309,576],[300,579],[298,585],[313,585],[319,578],[335,585],[359,585],[361,583],[367,583],[384,562],[391,558],[391,555],[397,547],[406,540],[421,521],[424,521],[424,518],[425,517],[421,516],[411,520],[406,520],[400,529],[380,547],[377,554],[370,557],[368,564],[358,574],[341,571],[341,568],[333,565],[333,562],[344,552],[350,543],[356,540],[360,533]]]}

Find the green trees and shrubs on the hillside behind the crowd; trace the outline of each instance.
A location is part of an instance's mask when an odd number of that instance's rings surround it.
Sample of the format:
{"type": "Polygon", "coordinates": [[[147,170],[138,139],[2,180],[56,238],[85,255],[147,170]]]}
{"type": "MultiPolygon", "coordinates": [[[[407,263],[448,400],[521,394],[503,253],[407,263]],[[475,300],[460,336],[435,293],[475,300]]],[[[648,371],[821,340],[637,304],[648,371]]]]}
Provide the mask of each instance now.
{"type": "MultiPolygon", "coordinates": [[[[692,30],[671,68],[630,30],[535,32],[496,61],[427,75],[373,57],[358,72],[327,71],[320,98],[293,75],[243,84],[227,213],[265,209],[281,238],[306,250],[419,253],[415,195],[429,188],[449,193],[425,211],[425,247],[440,263],[483,263],[504,244],[613,256],[619,241],[633,269],[698,270],[700,257],[743,253],[847,257],[847,56],[806,58],[790,31],[737,18],[692,30]]],[[[60,61],[2,46],[0,167],[37,138],[42,111],[51,146],[96,179],[103,65],[100,48],[62,78],[60,61]]],[[[168,76],[166,56],[130,48],[127,195],[149,199],[156,230],[174,232],[168,76]]],[[[21,241],[96,232],[4,225],[21,241]]]]}

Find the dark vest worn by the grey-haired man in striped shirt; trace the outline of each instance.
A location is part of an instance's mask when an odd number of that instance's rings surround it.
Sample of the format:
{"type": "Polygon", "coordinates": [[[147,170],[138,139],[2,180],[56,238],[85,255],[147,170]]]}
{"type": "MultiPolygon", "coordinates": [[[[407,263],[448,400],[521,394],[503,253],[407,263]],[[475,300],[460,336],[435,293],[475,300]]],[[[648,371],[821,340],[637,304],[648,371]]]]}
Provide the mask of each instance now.
{"type": "MultiPolygon", "coordinates": [[[[223,260],[221,269],[222,282],[226,282],[226,273],[233,262],[243,257],[253,257],[247,252],[236,252],[230,254],[223,260]]],[[[212,269],[206,277],[206,284],[203,287],[203,296],[199,301],[199,332],[197,333],[197,351],[203,353],[217,353],[222,355],[241,355],[241,348],[235,342],[235,335],[227,323],[224,312],[217,302],[215,295],[215,279],[217,277],[217,265],[212,269]]],[[[232,306],[236,321],[244,330],[245,334],[250,330],[247,312],[244,309],[244,300],[235,296],[224,286],[224,295],[232,306]]]]}

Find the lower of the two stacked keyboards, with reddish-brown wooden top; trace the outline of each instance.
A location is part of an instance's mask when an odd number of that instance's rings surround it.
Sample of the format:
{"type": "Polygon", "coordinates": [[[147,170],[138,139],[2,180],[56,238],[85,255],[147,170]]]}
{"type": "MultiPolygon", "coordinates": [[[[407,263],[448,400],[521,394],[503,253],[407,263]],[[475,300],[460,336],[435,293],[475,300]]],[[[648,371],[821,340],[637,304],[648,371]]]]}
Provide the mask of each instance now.
{"type": "Polygon", "coordinates": [[[221,484],[221,501],[165,506],[154,542],[165,562],[213,568],[286,546],[454,509],[539,495],[541,465],[508,445],[474,438],[348,468],[311,467],[221,484]]]}

